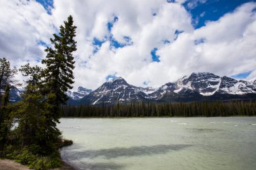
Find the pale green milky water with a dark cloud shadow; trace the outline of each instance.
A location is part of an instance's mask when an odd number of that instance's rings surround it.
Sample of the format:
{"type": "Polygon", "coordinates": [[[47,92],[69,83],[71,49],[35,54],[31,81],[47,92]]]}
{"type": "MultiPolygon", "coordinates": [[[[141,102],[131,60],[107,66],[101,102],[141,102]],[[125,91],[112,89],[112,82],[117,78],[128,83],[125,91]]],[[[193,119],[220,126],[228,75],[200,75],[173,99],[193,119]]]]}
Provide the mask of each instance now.
{"type": "Polygon", "coordinates": [[[75,169],[256,169],[256,117],[62,118],[75,169]]]}

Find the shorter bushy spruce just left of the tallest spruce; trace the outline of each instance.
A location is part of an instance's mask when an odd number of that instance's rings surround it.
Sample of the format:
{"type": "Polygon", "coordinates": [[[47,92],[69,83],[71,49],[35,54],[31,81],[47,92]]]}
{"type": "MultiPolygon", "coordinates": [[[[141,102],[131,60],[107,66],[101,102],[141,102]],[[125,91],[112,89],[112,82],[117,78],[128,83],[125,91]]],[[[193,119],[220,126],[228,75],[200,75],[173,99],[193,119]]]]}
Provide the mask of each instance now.
{"type": "Polygon", "coordinates": [[[42,68],[29,64],[19,69],[22,75],[28,77],[22,95],[22,101],[13,104],[11,115],[18,121],[15,129],[18,138],[18,148],[27,147],[34,154],[47,155],[57,150],[57,142],[61,132],[52,122],[51,109],[53,105],[45,102],[42,95],[42,68]]]}

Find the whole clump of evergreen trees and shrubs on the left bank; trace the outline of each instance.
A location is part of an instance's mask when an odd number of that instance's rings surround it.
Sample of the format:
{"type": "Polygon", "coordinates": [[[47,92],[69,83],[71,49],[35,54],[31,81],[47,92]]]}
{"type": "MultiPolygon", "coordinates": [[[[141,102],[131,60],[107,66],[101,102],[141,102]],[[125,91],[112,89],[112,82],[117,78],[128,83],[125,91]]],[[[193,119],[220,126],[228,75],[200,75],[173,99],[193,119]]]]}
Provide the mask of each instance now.
{"type": "Polygon", "coordinates": [[[9,103],[9,90],[16,85],[6,58],[0,58],[0,157],[14,159],[31,169],[50,169],[61,166],[59,148],[72,144],[63,140],[57,128],[61,105],[67,101],[65,91],[72,88],[76,50],[75,26],[69,16],[59,35],[53,34],[54,48],[46,48],[42,60],[45,69],[28,63],[19,69],[27,77],[22,101],[9,103]]]}

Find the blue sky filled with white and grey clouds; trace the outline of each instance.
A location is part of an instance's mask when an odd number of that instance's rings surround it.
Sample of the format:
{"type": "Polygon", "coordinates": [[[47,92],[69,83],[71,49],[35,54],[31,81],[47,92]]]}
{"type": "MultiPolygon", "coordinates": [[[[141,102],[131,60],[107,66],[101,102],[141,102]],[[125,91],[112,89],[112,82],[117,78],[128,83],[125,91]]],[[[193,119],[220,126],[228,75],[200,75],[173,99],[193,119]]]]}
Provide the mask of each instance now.
{"type": "Polygon", "coordinates": [[[73,89],[115,77],[141,87],[193,72],[256,77],[256,1],[1,0],[0,10],[0,57],[18,68],[44,67],[50,38],[73,16],[73,89]]]}

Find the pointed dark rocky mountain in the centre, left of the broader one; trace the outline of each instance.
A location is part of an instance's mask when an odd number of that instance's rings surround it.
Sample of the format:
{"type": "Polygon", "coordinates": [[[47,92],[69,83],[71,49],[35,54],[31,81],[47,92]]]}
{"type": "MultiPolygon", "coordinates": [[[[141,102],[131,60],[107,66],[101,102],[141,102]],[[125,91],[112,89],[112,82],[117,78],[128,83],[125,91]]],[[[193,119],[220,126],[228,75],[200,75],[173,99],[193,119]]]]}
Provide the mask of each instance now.
{"type": "Polygon", "coordinates": [[[98,104],[98,103],[120,103],[145,101],[147,93],[152,93],[153,88],[135,87],[129,85],[125,79],[118,77],[107,81],[92,93],[80,100],[83,104],[98,104]]]}

